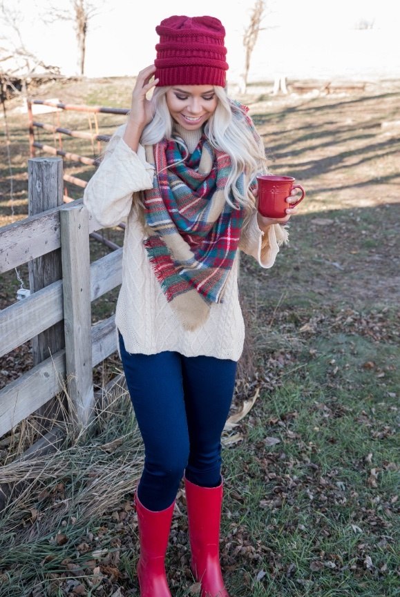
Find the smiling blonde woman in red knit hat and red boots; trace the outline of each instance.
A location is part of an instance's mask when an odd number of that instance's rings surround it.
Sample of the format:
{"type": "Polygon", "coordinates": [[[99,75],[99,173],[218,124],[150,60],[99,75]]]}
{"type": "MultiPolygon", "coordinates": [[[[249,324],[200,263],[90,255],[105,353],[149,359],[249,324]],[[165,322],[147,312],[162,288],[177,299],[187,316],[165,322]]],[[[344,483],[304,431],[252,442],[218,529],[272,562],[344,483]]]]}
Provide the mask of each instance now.
{"type": "Polygon", "coordinates": [[[265,152],[247,110],[226,95],[222,23],[173,16],[156,30],[155,63],[138,75],[84,204],[103,226],[127,218],[115,318],[145,448],[140,594],[171,597],[164,556],[184,476],[193,574],[202,597],[227,597],[220,438],[244,341],[238,249],[271,267],[296,199],[282,219],[256,210],[265,152]]]}

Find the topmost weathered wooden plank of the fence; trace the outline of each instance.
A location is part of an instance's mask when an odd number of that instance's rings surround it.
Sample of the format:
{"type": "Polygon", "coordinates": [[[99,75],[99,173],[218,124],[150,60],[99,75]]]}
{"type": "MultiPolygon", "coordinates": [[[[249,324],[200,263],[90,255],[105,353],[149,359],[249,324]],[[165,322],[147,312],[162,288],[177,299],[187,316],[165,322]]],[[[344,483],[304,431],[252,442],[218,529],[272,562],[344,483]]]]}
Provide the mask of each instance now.
{"type": "MultiPolygon", "coordinates": [[[[75,199],[74,205],[82,205],[75,199]]],[[[59,214],[69,205],[50,209],[3,226],[0,231],[0,273],[5,273],[61,246],[59,214]]],[[[89,214],[89,233],[100,230],[101,224],[89,214]]]]}

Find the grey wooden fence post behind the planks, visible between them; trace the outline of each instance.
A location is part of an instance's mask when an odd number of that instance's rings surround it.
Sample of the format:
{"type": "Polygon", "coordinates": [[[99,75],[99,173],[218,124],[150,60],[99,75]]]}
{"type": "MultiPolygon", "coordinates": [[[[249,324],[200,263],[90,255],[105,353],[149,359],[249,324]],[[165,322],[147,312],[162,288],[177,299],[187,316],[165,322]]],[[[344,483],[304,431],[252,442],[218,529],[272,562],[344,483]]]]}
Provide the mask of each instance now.
{"type": "MultiPolygon", "coordinates": [[[[36,215],[64,203],[63,163],[61,157],[28,159],[28,215],[36,215]]],[[[34,293],[62,277],[61,249],[52,251],[29,264],[30,292],[34,293]]],[[[59,322],[32,338],[33,364],[64,349],[64,325],[59,322]]],[[[37,411],[42,428],[48,429],[57,418],[59,402],[53,398],[37,411]]]]}

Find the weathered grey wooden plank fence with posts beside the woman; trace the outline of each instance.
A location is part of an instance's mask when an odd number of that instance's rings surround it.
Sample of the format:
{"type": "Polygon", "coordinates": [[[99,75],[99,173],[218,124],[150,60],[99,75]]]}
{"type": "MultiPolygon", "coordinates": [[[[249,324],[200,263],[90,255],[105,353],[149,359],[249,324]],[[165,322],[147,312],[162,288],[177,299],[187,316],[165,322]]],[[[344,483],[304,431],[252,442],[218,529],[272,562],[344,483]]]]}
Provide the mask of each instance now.
{"type": "Polygon", "coordinates": [[[30,159],[29,194],[56,193],[59,204],[0,232],[0,274],[26,262],[30,273],[35,264],[36,271],[43,271],[41,260],[51,256],[56,261],[58,256],[62,266],[59,280],[33,292],[30,284],[30,296],[0,311],[0,356],[35,338],[44,338],[41,344],[49,349],[46,331],[64,329],[56,334],[61,345],[55,352],[41,351],[30,371],[0,391],[0,437],[64,388],[78,424],[85,424],[94,404],[93,367],[117,348],[114,316],[92,325],[91,301],[121,284],[122,248],[90,262],[89,234],[102,226],[82,199],[62,204],[62,178],[61,158],[30,159]]]}

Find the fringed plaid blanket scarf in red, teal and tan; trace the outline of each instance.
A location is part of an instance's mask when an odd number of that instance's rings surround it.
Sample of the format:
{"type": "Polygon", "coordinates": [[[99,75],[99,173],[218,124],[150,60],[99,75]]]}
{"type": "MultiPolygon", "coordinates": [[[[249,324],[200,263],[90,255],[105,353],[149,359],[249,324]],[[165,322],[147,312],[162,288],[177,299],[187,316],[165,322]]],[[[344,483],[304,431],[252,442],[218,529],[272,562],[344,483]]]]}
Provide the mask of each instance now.
{"type": "Polygon", "coordinates": [[[204,135],[186,159],[183,152],[176,141],[146,147],[155,175],[153,188],[144,191],[144,247],[166,299],[193,330],[207,320],[211,304],[222,302],[244,210],[225,200],[226,153],[204,135]]]}

